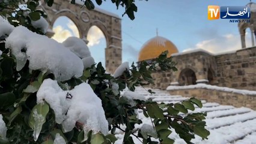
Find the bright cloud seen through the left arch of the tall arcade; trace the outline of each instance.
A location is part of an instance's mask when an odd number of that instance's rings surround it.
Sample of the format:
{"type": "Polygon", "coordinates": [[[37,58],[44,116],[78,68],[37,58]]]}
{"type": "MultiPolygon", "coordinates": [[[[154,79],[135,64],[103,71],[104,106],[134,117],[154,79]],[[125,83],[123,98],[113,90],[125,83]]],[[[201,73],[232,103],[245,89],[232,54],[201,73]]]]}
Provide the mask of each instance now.
{"type": "Polygon", "coordinates": [[[55,32],[55,34],[52,38],[59,43],[62,43],[68,37],[79,37],[78,28],[76,27],[75,23],[72,22],[72,20],[69,20],[67,27],[69,29],[63,28],[62,25],[55,26],[53,28],[53,32],[55,32]]]}

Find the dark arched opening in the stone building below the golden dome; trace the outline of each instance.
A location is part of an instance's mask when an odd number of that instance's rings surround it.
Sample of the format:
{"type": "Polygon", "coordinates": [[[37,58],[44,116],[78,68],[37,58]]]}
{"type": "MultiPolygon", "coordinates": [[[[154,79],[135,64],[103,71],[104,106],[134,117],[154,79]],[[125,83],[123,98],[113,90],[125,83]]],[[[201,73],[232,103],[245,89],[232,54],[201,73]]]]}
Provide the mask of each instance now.
{"type": "Polygon", "coordinates": [[[195,72],[190,68],[185,68],[180,72],[178,83],[180,86],[197,84],[197,77],[195,76],[195,72]]]}

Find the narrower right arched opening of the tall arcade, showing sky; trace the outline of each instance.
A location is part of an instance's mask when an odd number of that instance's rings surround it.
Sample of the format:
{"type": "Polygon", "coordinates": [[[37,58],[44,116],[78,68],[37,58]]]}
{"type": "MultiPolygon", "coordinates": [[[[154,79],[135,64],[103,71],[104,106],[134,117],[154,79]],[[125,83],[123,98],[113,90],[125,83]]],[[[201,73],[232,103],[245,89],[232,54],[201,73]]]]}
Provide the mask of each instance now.
{"type": "Polygon", "coordinates": [[[106,37],[102,30],[97,26],[91,26],[87,34],[88,44],[91,56],[93,56],[96,63],[102,62],[102,66],[105,67],[105,49],[106,49],[106,37]]]}

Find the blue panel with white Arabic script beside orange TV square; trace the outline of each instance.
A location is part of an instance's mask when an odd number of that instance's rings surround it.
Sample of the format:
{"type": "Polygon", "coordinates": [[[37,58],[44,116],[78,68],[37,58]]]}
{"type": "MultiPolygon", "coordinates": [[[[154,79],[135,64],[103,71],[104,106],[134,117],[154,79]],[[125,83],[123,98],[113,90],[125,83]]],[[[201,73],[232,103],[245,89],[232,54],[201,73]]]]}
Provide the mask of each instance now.
{"type": "Polygon", "coordinates": [[[221,7],[221,19],[250,19],[249,7],[221,7]]]}

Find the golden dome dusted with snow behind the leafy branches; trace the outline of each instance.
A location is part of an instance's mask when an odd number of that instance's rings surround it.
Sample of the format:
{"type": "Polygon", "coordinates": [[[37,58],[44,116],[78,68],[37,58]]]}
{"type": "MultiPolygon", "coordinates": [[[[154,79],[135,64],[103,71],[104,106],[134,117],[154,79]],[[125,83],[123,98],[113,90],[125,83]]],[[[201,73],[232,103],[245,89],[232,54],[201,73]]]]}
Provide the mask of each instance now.
{"type": "Polygon", "coordinates": [[[141,51],[139,52],[138,61],[157,58],[166,50],[168,50],[168,57],[171,56],[172,53],[178,52],[177,47],[171,41],[164,37],[153,37],[142,46],[141,51]]]}

